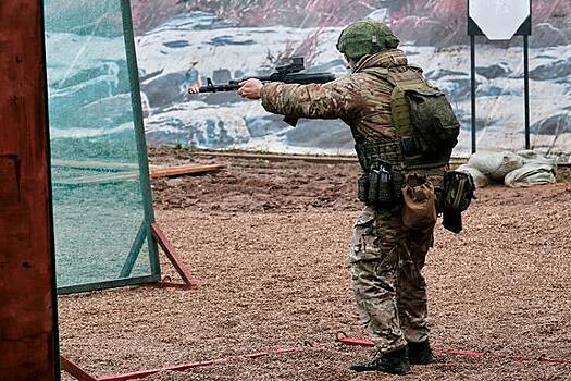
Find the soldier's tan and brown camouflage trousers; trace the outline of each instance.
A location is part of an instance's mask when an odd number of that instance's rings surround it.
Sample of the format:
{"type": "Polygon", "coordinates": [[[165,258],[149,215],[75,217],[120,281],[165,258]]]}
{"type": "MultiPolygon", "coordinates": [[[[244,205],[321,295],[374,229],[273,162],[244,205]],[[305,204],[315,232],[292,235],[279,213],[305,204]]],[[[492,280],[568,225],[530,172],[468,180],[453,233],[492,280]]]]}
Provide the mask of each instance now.
{"type": "Polygon", "coordinates": [[[406,229],[400,205],[365,207],[355,223],[350,269],[357,308],[381,353],[429,337],[421,270],[433,237],[434,225],[406,229]]]}

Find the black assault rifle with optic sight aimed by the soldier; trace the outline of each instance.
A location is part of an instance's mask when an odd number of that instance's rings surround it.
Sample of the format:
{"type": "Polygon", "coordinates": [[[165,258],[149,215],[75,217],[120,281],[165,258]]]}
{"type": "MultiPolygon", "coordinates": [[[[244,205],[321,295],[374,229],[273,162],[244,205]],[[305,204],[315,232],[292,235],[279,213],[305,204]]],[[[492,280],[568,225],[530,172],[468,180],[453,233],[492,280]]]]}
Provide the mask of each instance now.
{"type": "Polygon", "coordinates": [[[303,57],[294,57],[291,63],[275,67],[275,73],[268,76],[249,76],[241,79],[232,79],[225,85],[214,85],[211,78],[207,78],[207,85],[198,88],[198,93],[235,91],[240,82],[256,78],[261,82],[284,82],[286,84],[324,84],[335,79],[330,73],[300,73],[303,71],[303,57]]]}

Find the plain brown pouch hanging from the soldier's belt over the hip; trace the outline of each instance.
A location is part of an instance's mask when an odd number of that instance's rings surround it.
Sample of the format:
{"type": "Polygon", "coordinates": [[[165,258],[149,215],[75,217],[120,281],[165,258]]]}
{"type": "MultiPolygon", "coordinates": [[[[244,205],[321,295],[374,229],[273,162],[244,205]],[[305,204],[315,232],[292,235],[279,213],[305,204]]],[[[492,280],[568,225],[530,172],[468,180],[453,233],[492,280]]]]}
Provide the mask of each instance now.
{"type": "Polygon", "coordinates": [[[402,188],[402,224],[411,230],[420,230],[436,223],[436,196],[434,185],[426,176],[411,174],[402,188]]]}

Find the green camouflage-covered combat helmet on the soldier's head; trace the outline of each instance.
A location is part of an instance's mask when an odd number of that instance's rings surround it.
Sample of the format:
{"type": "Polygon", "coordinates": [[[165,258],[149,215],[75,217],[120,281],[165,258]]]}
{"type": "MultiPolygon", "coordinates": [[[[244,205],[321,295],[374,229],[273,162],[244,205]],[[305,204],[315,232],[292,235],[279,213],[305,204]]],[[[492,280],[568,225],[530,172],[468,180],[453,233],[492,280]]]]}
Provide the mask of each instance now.
{"type": "Polygon", "coordinates": [[[347,26],[337,40],[337,50],[349,59],[395,49],[400,40],[390,28],[374,21],[358,21],[347,26]]]}

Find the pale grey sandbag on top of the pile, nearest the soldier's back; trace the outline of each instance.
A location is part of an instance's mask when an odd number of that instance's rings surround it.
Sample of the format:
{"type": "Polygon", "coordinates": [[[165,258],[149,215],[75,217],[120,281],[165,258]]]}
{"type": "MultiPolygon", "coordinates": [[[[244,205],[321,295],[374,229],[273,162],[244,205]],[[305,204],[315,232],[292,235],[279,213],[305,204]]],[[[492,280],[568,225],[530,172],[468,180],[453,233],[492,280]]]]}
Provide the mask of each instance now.
{"type": "Polygon", "coordinates": [[[509,151],[480,151],[468,159],[468,165],[477,169],[492,180],[504,181],[506,174],[523,167],[523,158],[509,151]]]}

